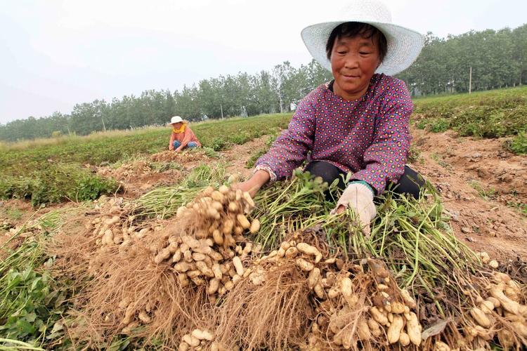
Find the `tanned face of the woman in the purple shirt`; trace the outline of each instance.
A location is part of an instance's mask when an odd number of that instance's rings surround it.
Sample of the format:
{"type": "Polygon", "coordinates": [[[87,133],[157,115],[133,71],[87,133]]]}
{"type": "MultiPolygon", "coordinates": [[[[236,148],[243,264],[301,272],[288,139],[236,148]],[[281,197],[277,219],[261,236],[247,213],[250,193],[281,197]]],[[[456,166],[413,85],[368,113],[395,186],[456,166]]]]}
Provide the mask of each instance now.
{"type": "Polygon", "coordinates": [[[337,38],[331,51],[334,92],[345,100],[356,100],[367,91],[379,67],[379,48],[372,38],[337,38]]]}

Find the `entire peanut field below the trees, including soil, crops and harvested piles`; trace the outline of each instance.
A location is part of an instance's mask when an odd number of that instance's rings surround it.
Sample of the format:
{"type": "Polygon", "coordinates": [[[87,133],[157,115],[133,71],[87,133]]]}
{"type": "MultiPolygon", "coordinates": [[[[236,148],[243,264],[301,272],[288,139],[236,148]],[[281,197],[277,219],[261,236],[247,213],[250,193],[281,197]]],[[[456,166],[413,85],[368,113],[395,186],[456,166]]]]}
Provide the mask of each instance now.
{"type": "Polygon", "coordinates": [[[416,99],[409,163],[433,189],[387,195],[371,237],[305,173],[229,192],[291,114],[196,124],[181,154],[167,128],[4,145],[0,347],[521,348],[526,109],[527,88],[416,99]],[[209,185],[252,210],[240,232],[193,202],[209,185]]]}

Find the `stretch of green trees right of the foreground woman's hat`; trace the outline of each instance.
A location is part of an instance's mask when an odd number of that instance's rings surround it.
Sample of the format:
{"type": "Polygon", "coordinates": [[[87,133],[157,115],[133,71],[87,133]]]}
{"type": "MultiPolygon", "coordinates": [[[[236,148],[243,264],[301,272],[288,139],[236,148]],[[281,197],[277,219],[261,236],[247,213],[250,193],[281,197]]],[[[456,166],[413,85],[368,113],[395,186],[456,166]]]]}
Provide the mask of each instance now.
{"type": "Polygon", "coordinates": [[[486,29],[445,39],[427,33],[414,64],[398,78],[415,94],[465,93],[507,88],[527,81],[527,24],[486,29]]]}

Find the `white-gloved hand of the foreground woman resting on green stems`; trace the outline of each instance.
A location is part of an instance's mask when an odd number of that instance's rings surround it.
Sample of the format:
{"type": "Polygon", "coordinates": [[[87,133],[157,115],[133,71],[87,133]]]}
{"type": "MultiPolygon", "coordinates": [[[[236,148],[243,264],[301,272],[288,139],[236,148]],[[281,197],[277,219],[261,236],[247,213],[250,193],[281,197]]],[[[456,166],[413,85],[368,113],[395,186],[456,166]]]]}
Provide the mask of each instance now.
{"type": "Polygon", "coordinates": [[[337,206],[331,213],[341,213],[346,209],[346,206],[358,214],[360,228],[366,237],[370,236],[370,222],[377,216],[377,209],[373,204],[373,194],[366,185],[360,183],[352,183],[346,187],[342,193],[337,206]]]}

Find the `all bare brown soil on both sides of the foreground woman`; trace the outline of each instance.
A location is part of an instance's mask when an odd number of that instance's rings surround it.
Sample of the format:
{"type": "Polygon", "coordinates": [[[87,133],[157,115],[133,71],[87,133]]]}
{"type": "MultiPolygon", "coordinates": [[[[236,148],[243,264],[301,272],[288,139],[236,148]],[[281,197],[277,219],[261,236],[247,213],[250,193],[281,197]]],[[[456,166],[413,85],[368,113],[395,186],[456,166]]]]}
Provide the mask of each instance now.
{"type": "MultiPolygon", "coordinates": [[[[430,133],[417,128],[412,129],[412,135],[419,157],[410,165],[438,190],[457,237],[476,251],[500,258],[527,258],[527,156],[505,150],[503,145],[509,138],[477,139],[460,137],[453,131],[430,133]]],[[[155,186],[176,184],[200,162],[224,162],[228,173],[246,178],[252,173],[245,166],[247,161],[255,150],[264,147],[267,139],[264,135],[234,145],[217,157],[198,152],[164,159],[178,165],[167,171],[153,171],[147,161],[122,164],[115,169],[103,166],[96,171],[119,180],[127,198],[138,197],[155,186]]],[[[150,160],[162,159],[162,154],[154,154],[150,160]]],[[[60,206],[63,205],[52,208],[60,206]]],[[[8,230],[33,212],[27,201],[2,201],[0,222],[8,230]]]]}

